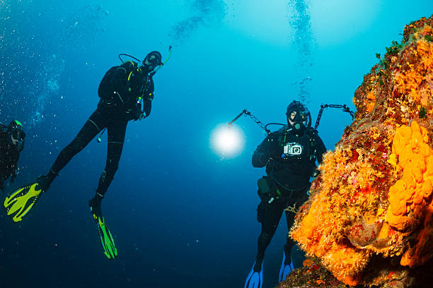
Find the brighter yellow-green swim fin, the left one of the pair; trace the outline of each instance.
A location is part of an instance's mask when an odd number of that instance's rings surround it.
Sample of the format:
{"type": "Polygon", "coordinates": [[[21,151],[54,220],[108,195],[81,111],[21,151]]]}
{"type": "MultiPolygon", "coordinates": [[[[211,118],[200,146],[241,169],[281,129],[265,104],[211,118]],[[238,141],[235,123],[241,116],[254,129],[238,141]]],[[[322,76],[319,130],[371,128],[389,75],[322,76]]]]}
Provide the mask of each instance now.
{"type": "Polygon", "coordinates": [[[4,200],[4,208],[13,222],[20,222],[42,193],[42,188],[35,182],[28,184],[11,193],[4,200]]]}

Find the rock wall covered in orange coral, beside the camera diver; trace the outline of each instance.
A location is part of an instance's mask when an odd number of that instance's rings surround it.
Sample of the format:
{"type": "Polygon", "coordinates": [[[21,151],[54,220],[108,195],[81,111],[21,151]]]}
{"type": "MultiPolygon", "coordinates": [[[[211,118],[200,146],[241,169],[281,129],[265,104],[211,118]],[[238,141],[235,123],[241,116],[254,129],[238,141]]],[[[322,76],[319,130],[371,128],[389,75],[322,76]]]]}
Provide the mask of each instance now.
{"type": "Polygon", "coordinates": [[[432,17],[406,25],[364,76],[355,119],[325,155],[291,229],[345,284],[380,284],[384,268],[365,275],[372,258],[392,262],[395,275],[433,258],[432,17]]]}

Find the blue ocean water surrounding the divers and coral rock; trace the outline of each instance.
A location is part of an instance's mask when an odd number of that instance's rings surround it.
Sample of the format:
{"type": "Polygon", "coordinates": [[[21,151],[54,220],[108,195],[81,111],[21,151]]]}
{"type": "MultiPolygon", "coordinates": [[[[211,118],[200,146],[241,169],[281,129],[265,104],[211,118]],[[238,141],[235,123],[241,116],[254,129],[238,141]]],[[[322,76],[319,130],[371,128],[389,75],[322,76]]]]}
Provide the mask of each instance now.
{"type": "MultiPolygon", "coordinates": [[[[88,210],[105,166],[106,135],[65,167],[20,224],[0,215],[0,281],[16,287],[243,287],[260,224],[251,155],[265,133],[248,118],[236,157],[221,157],[212,130],[243,109],[285,121],[303,100],[354,109],[354,90],[404,25],[431,16],[414,1],[0,1],[0,121],[27,133],[16,182],[45,174],[96,109],[100,79],[119,53],[173,54],[154,77],[151,116],[130,122],[103,212],[115,236],[108,261],[88,210]]],[[[328,150],[349,114],[323,113],[328,150]]],[[[277,127],[273,127],[277,128],[277,127]]],[[[6,196],[6,194],[4,194],[6,196]]],[[[287,227],[267,248],[275,287],[287,227]]],[[[5,286],[6,287],[6,286],[5,286]]]]}

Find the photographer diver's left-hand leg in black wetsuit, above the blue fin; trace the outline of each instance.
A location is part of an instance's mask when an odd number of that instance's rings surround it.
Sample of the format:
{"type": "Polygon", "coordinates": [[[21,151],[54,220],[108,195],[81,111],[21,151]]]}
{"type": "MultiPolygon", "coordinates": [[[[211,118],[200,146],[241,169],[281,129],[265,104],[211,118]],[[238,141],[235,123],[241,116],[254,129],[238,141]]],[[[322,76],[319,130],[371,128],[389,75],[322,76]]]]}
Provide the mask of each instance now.
{"type": "Polygon", "coordinates": [[[263,258],[265,258],[265,250],[277,230],[279,219],[284,210],[284,198],[279,198],[270,204],[264,202],[261,205],[265,205],[265,207],[262,208],[264,215],[260,217],[262,220],[262,232],[258,238],[258,251],[254,266],[256,272],[260,271],[263,258]]]}

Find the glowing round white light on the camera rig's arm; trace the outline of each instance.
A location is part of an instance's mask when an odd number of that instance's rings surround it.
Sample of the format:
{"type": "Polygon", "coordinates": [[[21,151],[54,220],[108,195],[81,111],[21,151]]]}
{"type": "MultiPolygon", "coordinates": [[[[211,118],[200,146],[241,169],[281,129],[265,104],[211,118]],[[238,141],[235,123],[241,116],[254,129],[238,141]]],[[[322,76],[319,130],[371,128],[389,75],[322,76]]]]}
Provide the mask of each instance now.
{"type": "Polygon", "coordinates": [[[245,136],[237,126],[229,128],[221,124],[214,128],[210,139],[211,147],[222,157],[235,157],[239,155],[245,144],[245,136]]]}

